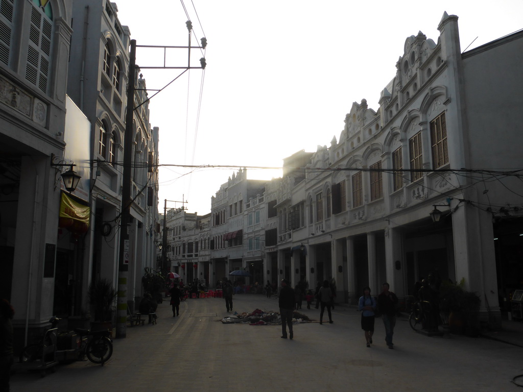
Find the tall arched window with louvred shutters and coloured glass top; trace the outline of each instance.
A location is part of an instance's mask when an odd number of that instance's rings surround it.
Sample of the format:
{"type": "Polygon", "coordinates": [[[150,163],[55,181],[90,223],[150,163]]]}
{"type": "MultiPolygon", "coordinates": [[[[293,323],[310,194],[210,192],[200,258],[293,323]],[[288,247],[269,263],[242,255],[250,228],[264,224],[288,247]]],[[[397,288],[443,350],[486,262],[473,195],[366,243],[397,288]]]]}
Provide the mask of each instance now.
{"type": "MultiPolygon", "coordinates": [[[[53,10],[48,0],[33,0],[27,48],[26,79],[47,93],[53,36],[53,10]]],[[[2,2],[2,5],[4,2],[2,2]]]]}

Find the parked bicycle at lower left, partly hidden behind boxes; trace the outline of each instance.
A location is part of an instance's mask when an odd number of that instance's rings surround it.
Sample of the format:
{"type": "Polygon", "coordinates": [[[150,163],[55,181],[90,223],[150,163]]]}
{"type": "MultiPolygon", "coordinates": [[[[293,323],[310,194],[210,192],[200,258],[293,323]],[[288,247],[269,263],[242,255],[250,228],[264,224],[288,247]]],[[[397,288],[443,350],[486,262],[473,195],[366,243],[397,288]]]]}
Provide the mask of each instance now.
{"type": "MultiPolygon", "coordinates": [[[[55,326],[60,321],[59,318],[52,317],[51,325],[53,326],[50,331],[56,333],[55,326]]],[[[76,350],[75,359],[77,361],[83,361],[87,356],[87,359],[93,363],[101,364],[107,362],[112,355],[112,341],[109,338],[110,332],[107,329],[92,331],[89,329],[75,328],[74,332],[78,335],[77,347],[73,348],[76,350]]],[[[27,345],[24,350],[20,353],[20,362],[32,362],[41,360],[46,355],[46,347],[55,344],[56,338],[51,340],[49,333],[46,331],[42,338],[38,342],[27,345]],[[46,340],[49,340],[47,342],[46,340]]],[[[55,353],[59,353],[62,350],[55,350],[55,353]]],[[[53,353],[54,354],[54,353],[53,353]]]]}

